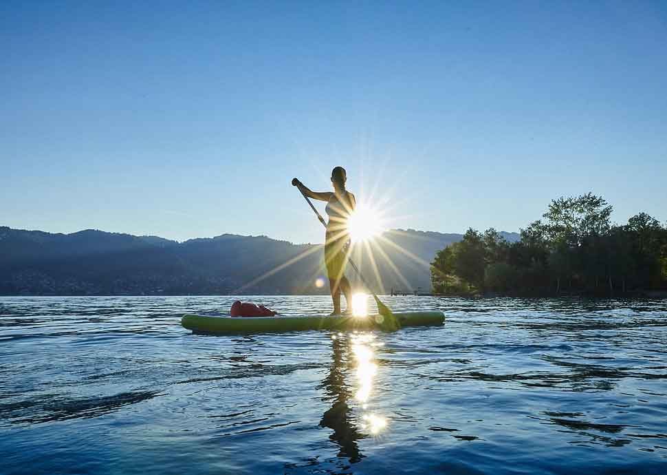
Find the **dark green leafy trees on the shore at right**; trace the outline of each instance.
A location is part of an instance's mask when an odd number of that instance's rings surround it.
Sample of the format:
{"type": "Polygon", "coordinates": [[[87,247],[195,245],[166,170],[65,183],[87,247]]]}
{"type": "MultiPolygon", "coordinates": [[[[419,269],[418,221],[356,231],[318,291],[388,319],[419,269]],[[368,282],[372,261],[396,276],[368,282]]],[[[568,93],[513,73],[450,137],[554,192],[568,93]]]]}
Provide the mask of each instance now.
{"type": "Polygon", "coordinates": [[[592,193],[552,200],[543,220],[507,242],[468,229],[431,263],[433,291],[474,295],[631,295],[667,290],[667,227],[647,213],[611,224],[592,193]]]}

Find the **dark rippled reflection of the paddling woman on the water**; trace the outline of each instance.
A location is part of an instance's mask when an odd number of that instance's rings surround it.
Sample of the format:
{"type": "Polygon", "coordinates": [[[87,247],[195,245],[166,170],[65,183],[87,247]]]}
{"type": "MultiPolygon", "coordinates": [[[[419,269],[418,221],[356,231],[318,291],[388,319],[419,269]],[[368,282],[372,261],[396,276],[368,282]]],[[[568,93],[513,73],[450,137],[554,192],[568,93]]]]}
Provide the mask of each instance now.
{"type": "Polygon", "coordinates": [[[333,430],[329,439],[340,446],[338,456],[349,458],[351,463],[356,463],[363,457],[357,441],[364,439],[365,435],[359,432],[352,422],[352,410],[348,403],[353,398],[352,390],[345,381],[350,359],[349,341],[334,338],[331,342],[331,366],[320,387],[325,388],[333,404],[322,416],[320,427],[329,427],[333,430]]]}

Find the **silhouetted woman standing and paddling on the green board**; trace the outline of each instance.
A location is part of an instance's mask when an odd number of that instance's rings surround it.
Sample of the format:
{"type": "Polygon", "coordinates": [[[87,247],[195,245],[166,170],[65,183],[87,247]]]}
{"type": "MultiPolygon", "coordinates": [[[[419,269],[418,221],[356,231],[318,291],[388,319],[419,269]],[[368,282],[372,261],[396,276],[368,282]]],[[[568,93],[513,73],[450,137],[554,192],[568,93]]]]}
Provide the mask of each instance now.
{"type": "Polygon", "coordinates": [[[345,189],[346,181],[347,173],[343,167],[336,167],[331,171],[333,193],[331,191],[311,191],[302,182],[294,179],[296,187],[305,196],[327,202],[329,222],[327,222],[327,233],[325,234],[325,264],[329,275],[331,299],[333,299],[331,315],[340,315],[340,291],[345,294],[347,304],[345,313],[351,313],[352,308],[352,288],[345,277],[345,264],[347,264],[347,253],[349,252],[347,220],[354,211],[356,198],[345,189]]]}

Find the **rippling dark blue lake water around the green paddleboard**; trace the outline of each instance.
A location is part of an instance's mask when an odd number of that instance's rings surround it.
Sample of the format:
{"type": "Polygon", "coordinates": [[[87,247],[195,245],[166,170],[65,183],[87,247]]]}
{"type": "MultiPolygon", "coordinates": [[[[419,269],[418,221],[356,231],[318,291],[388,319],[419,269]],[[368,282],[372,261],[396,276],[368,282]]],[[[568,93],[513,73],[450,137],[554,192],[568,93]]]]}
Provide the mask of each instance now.
{"type": "Polygon", "coordinates": [[[665,301],[383,297],[446,322],[180,326],[233,299],[0,297],[0,473],[667,473],[665,301]]]}

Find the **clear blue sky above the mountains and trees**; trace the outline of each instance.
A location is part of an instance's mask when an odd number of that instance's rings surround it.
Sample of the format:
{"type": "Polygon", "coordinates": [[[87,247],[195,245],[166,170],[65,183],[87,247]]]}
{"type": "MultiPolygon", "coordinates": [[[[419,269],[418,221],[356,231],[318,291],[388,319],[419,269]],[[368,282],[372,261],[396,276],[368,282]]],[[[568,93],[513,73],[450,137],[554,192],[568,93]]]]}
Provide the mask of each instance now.
{"type": "Polygon", "coordinates": [[[0,225],[322,242],[336,165],[392,228],[667,221],[664,1],[3,1],[0,50],[0,225]]]}

